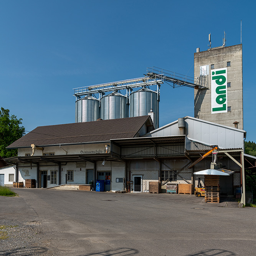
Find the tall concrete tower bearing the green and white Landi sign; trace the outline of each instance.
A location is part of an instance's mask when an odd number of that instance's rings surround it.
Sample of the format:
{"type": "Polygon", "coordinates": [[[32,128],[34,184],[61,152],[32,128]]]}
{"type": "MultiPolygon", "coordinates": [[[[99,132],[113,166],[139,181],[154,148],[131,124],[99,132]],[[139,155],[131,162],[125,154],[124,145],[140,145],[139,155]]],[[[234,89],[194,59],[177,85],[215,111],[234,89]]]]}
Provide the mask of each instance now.
{"type": "Polygon", "coordinates": [[[194,91],[195,117],[243,129],[242,45],[197,48],[194,77],[208,81],[208,89],[194,91]]]}

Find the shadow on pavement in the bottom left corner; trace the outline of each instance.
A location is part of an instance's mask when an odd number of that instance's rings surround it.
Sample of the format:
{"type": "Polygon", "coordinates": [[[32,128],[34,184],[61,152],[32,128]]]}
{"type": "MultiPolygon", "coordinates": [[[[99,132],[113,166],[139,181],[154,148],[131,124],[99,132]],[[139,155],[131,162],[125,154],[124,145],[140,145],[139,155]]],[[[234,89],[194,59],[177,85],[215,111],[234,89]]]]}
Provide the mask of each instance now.
{"type": "Polygon", "coordinates": [[[25,248],[17,248],[17,249],[11,249],[11,250],[5,250],[0,251],[1,256],[13,256],[13,255],[19,255],[19,256],[30,256],[30,255],[40,255],[41,253],[45,253],[48,251],[45,247],[25,247],[25,248]]]}

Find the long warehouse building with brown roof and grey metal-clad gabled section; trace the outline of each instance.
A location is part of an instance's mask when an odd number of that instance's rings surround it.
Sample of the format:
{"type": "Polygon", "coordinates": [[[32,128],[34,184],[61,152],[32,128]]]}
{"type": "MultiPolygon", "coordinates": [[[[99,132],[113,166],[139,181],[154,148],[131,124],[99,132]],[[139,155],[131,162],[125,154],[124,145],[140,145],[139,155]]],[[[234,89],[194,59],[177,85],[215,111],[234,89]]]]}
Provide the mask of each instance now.
{"type": "Polygon", "coordinates": [[[210,168],[211,155],[190,165],[218,145],[218,162],[234,172],[221,180],[221,193],[233,195],[242,174],[233,159],[241,163],[245,135],[193,117],[159,129],[150,116],[41,126],[8,146],[18,157],[6,161],[17,166],[16,182],[34,179],[38,188],[104,180],[104,191],[148,192],[154,181],[165,192],[170,184],[196,186],[194,172],[210,168]]]}

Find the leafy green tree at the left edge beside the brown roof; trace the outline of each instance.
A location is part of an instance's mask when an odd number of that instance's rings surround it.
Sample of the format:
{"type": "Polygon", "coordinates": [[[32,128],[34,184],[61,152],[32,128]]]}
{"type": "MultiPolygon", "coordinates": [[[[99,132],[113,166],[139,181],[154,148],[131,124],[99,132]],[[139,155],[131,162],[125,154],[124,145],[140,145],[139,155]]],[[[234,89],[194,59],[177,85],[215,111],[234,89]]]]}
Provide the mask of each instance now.
{"type": "Polygon", "coordinates": [[[15,140],[25,135],[25,128],[21,126],[22,119],[10,116],[10,110],[1,107],[0,110],[0,155],[3,158],[17,156],[17,149],[6,149],[15,140]]]}

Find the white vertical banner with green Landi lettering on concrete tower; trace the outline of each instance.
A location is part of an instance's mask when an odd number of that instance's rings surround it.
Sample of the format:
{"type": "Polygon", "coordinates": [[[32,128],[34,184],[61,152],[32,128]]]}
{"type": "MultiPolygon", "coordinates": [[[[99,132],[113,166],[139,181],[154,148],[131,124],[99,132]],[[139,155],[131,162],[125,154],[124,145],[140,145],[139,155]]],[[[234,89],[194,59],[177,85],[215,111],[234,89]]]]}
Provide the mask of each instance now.
{"type": "Polygon", "coordinates": [[[227,68],[211,70],[211,114],[228,112],[227,68]]]}

